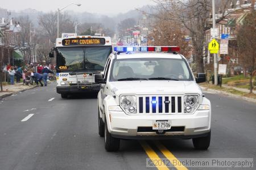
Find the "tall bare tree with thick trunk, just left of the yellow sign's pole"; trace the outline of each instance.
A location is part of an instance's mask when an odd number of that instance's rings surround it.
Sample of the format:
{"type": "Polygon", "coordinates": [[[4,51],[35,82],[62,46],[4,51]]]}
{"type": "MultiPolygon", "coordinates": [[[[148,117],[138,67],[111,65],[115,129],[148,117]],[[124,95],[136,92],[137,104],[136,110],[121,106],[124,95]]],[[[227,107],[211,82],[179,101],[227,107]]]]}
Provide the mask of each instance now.
{"type": "MultiPolygon", "coordinates": [[[[209,24],[211,1],[210,0],[156,0],[159,11],[167,13],[167,20],[174,20],[189,31],[192,40],[193,58],[196,63],[196,72],[204,72],[203,57],[205,56],[205,31],[211,27],[209,24]]],[[[221,7],[222,15],[217,22],[226,17],[227,1],[221,7]]]]}

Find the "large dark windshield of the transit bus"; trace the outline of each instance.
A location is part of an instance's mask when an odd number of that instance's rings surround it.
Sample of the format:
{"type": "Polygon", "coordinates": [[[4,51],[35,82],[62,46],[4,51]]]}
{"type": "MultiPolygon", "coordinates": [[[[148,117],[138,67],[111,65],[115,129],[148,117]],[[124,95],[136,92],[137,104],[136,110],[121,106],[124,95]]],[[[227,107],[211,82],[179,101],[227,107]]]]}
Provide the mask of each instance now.
{"type": "Polygon", "coordinates": [[[57,69],[60,70],[103,70],[112,52],[111,46],[102,47],[59,47],[57,69]]]}

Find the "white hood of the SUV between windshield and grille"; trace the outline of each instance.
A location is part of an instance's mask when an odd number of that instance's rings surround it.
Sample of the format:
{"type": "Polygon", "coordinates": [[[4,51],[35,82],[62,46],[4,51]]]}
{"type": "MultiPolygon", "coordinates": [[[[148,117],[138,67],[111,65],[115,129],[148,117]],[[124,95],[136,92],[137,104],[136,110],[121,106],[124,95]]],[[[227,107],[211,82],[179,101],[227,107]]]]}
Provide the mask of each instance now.
{"type": "Polygon", "coordinates": [[[109,88],[117,96],[121,94],[202,94],[195,81],[115,81],[109,82],[109,88]]]}

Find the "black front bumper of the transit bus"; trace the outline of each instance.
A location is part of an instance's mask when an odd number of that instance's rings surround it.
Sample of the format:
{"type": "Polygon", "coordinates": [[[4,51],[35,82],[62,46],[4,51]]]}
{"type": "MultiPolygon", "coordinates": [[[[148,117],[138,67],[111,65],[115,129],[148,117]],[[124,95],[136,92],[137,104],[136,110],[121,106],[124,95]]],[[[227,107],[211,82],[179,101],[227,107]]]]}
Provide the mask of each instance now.
{"type": "Polygon", "coordinates": [[[89,93],[98,92],[101,89],[100,84],[90,85],[73,85],[73,86],[57,86],[56,91],[59,94],[71,94],[71,93],[89,93]]]}

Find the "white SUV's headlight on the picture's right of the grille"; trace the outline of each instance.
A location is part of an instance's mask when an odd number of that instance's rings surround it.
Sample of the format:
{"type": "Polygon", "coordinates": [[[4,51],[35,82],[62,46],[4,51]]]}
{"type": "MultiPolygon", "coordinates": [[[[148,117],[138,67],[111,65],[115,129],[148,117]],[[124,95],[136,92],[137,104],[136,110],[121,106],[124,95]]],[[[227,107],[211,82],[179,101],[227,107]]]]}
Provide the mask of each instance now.
{"type": "Polygon", "coordinates": [[[193,113],[196,107],[199,105],[199,99],[197,95],[185,95],[184,96],[184,113],[193,113]]]}

